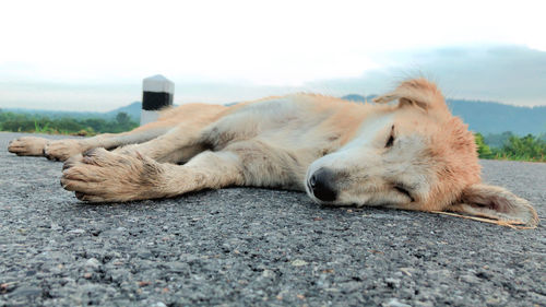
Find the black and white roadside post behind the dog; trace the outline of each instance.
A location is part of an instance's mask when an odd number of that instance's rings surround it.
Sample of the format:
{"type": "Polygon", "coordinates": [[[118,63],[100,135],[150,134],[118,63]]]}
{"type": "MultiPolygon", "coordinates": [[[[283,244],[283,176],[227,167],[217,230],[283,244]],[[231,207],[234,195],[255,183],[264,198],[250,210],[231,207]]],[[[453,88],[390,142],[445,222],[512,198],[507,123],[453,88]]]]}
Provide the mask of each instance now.
{"type": "Polygon", "coordinates": [[[157,120],[159,110],[173,105],[175,83],[156,74],[142,81],[142,113],[140,126],[157,120]]]}

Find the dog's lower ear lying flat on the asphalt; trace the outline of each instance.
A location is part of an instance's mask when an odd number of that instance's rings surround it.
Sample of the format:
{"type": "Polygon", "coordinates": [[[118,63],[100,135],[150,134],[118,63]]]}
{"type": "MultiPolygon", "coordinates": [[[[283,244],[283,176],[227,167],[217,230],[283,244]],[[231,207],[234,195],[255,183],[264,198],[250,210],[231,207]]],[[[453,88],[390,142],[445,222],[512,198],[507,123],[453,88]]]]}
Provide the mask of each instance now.
{"type": "Polygon", "coordinates": [[[534,227],[538,224],[538,215],[529,201],[501,187],[483,184],[466,187],[459,203],[449,210],[512,225],[534,227]]]}

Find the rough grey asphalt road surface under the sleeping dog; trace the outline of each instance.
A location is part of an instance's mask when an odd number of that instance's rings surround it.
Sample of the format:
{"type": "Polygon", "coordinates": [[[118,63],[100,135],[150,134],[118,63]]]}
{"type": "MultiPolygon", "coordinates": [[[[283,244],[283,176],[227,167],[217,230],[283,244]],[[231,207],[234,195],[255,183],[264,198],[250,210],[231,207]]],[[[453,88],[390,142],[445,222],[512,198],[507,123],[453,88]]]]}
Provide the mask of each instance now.
{"type": "MultiPolygon", "coordinates": [[[[546,231],[229,188],[86,204],[0,133],[0,306],[545,306],[546,231]]],[[[546,164],[483,161],[546,216],[546,164]]]]}

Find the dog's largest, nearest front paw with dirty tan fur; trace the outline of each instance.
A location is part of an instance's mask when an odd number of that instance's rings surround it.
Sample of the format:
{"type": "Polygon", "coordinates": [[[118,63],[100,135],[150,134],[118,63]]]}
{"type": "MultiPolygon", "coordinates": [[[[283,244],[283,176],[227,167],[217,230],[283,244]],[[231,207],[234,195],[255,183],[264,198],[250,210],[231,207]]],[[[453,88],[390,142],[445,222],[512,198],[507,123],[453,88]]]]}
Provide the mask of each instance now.
{"type": "Polygon", "coordinates": [[[142,155],[128,156],[94,149],[69,158],[61,186],[80,200],[115,202],[158,198],[163,167],[142,155]]]}

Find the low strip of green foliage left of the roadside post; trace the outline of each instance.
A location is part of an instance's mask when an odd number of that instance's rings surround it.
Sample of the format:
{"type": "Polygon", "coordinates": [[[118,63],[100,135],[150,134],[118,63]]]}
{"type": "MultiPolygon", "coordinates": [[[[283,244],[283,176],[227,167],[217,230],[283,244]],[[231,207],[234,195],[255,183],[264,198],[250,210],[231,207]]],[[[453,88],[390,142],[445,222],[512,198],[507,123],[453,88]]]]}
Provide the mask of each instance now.
{"type": "Polygon", "coordinates": [[[0,111],[0,131],[93,135],[129,131],[138,126],[126,113],[119,113],[116,119],[105,120],[102,118],[49,118],[40,115],[0,111]]]}

